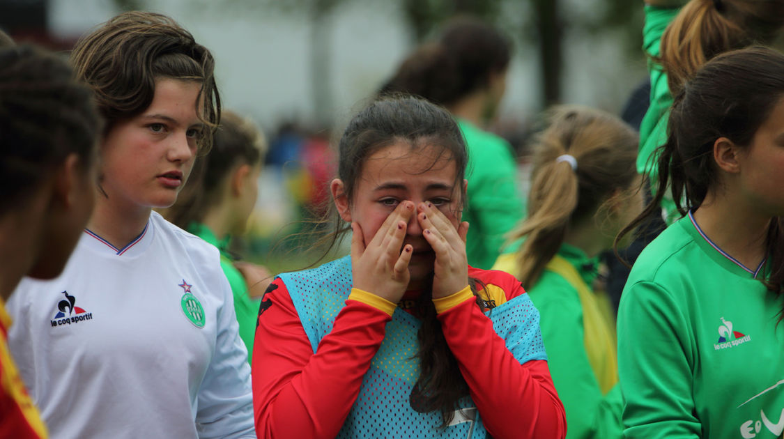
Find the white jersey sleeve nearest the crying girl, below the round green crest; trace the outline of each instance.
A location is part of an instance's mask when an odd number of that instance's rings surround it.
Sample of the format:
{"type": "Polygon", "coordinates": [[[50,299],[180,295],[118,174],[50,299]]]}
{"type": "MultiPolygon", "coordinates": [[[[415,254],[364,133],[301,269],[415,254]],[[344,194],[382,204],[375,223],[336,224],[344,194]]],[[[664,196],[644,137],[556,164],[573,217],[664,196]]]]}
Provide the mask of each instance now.
{"type": "Polygon", "coordinates": [[[196,427],[201,439],[252,438],[248,351],[239,336],[231,288],[223,272],[220,275],[223,306],[217,313],[215,352],[198,390],[196,427]]]}

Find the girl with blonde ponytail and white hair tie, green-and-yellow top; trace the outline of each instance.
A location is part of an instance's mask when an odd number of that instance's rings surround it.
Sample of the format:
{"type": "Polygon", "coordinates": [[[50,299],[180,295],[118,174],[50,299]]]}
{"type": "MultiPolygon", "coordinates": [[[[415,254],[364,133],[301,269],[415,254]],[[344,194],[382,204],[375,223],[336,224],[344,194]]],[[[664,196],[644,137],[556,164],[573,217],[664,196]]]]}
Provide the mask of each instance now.
{"type": "Polygon", "coordinates": [[[642,210],[637,133],[587,107],[557,107],[548,122],[535,144],[529,216],[512,232],[524,243],[493,268],[520,279],[539,310],[566,437],[617,438],[615,317],[592,285],[598,254],[642,210]]]}

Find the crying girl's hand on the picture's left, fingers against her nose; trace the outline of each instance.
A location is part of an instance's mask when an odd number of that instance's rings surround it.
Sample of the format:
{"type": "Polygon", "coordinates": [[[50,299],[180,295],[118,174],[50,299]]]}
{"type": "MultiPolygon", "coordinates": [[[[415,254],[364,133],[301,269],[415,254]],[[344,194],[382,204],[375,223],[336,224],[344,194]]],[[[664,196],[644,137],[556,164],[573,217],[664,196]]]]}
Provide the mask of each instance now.
{"type": "Polygon", "coordinates": [[[354,288],[375,294],[391,303],[400,302],[408,288],[408,263],[413,248],[401,245],[408,220],[414,214],[414,203],[403,201],[384,220],[376,235],[365,244],[358,223],[351,223],[351,273],[354,288]]]}

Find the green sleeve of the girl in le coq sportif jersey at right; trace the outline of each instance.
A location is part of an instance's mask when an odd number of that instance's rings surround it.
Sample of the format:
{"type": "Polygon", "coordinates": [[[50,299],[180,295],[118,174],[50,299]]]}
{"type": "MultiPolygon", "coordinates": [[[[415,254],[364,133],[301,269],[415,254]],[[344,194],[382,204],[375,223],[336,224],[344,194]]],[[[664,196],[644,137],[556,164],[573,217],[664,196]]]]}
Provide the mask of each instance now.
{"type": "Polygon", "coordinates": [[[626,399],[624,437],[700,437],[691,368],[691,328],[669,292],[627,285],[618,313],[618,372],[626,399]]]}

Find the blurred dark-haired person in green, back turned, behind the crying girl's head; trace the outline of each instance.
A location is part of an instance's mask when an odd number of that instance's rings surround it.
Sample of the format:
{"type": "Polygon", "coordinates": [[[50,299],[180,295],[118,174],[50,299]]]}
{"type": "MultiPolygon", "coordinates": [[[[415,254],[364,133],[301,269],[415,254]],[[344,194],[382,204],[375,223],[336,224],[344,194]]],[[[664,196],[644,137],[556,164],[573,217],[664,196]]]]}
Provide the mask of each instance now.
{"type": "Polygon", "coordinates": [[[471,267],[488,269],[504,234],[524,217],[517,164],[506,140],[485,131],[506,91],[510,42],[481,20],[452,20],[436,42],[408,56],[382,93],[412,93],[443,105],[456,118],[469,152],[463,220],[471,224],[471,267]]]}

